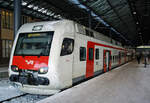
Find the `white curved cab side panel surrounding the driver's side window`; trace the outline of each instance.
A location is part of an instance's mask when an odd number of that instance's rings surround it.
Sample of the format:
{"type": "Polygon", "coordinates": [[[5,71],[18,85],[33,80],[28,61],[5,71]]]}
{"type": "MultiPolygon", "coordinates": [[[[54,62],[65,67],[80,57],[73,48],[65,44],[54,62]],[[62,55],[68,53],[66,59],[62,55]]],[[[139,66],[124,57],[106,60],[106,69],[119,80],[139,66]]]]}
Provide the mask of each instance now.
{"type": "MultiPolygon", "coordinates": [[[[61,24],[62,25],[62,24],[61,24]]],[[[73,55],[74,55],[74,24],[73,22],[64,22],[64,24],[58,28],[59,47],[57,47],[57,66],[56,71],[59,78],[60,88],[67,88],[72,86],[72,68],[73,68],[73,55]]],[[[56,51],[53,51],[56,52],[56,51]]],[[[54,55],[55,58],[56,55],[54,55]]],[[[56,60],[54,61],[56,62],[56,60]]]]}

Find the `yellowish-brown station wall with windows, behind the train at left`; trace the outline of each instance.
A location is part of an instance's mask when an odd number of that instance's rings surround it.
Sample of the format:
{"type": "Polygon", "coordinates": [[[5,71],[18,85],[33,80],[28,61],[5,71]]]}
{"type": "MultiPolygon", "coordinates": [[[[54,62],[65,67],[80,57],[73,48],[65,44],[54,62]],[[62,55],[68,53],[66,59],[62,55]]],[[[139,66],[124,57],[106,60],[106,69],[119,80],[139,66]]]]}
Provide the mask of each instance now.
{"type": "MultiPolygon", "coordinates": [[[[40,21],[27,15],[21,15],[21,24],[40,21]]],[[[8,64],[14,39],[13,11],[0,8],[0,65],[8,64]]]]}

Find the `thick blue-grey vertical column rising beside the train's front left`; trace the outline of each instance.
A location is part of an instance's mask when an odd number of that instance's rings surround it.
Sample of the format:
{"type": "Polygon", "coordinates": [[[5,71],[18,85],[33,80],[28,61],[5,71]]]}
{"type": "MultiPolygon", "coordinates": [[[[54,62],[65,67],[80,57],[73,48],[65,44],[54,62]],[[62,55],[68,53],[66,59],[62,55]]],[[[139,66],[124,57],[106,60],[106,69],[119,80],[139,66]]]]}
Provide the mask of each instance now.
{"type": "Polygon", "coordinates": [[[21,3],[22,0],[14,0],[14,39],[21,26],[21,3]]]}

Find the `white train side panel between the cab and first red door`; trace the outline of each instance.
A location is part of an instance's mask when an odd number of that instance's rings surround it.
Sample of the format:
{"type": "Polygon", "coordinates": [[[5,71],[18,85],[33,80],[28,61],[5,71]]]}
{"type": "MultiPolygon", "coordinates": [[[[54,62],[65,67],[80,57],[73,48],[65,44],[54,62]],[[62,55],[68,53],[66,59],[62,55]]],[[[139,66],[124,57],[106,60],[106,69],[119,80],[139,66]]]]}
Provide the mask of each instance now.
{"type": "Polygon", "coordinates": [[[73,82],[85,78],[86,53],[87,53],[86,48],[87,48],[87,36],[76,33],[74,44],[74,61],[72,70],[73,82]]]}

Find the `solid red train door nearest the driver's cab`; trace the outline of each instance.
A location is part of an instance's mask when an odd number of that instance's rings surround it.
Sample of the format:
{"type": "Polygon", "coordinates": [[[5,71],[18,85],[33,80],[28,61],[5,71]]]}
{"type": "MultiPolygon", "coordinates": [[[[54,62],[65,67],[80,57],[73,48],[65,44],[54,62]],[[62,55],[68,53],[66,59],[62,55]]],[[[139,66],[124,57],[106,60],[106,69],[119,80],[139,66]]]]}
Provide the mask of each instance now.
{"type": "Polygon", "coordinates": [[[86,63],[86,78],[94,75],[94,44],[88,42],[87,45],[87,63],[86,63]]]}

